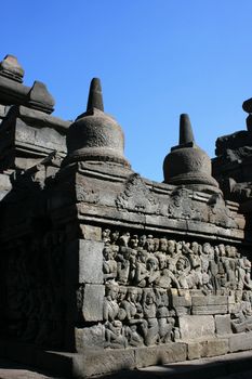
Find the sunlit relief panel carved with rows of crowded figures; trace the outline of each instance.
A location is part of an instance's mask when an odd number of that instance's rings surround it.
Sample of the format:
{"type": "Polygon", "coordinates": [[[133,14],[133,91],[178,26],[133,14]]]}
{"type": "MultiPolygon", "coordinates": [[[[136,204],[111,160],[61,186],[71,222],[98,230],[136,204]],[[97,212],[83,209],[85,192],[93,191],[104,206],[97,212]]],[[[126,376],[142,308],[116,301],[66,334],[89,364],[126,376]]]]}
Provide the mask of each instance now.
{"type": "Polygon", "coordinates": [[[105,348],[181,338],[181,317],[225,315],[233,332],[252,325],[251,262],[242,248],[103,231],[105,348]]]}

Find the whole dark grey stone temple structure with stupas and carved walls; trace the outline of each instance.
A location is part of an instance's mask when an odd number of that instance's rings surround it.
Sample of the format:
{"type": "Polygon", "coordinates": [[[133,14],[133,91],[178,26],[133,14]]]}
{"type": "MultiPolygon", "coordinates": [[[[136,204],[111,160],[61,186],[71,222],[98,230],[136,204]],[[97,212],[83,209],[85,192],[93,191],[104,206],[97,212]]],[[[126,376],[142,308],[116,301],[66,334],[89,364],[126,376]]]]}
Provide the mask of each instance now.
{"type": "Polygon", "coordinates": [[[157,183],[124,157],[98,79],[70,122],[23,77],[6,55],[0,355],[87,378],[252,349],[252,100],[212,161],[181,115],[157,183]]]}

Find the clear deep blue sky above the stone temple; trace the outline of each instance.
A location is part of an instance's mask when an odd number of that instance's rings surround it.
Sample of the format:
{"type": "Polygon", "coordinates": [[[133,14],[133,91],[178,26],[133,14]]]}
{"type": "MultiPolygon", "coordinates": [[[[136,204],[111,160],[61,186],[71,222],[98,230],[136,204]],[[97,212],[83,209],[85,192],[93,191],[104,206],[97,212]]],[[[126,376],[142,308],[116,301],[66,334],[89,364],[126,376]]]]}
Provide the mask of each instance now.
{"type": "Polygon", "coordinates": [[[181,113],[211,157],[218,135],[246,128],[251,19],[251,0],[3,1],[0,57],[18,57],[25,84],[43,81],[64,119],[85,109],[100,77],[133,169],[162,181],[181,113]]]}

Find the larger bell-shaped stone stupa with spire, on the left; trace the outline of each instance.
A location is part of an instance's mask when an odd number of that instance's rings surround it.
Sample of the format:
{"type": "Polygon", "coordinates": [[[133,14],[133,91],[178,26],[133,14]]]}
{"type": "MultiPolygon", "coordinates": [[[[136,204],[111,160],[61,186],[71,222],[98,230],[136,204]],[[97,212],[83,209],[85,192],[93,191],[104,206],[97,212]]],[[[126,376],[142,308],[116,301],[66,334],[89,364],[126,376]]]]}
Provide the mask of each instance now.
{"type": "Polygon", "coordinates": [[[124,158],[124,135],[119,123],[104,113],[102,87],[94,78],[90,84],[87,112],[77,117],[67,133],[66,164],[106,161],[130,168],[124,158]]]}

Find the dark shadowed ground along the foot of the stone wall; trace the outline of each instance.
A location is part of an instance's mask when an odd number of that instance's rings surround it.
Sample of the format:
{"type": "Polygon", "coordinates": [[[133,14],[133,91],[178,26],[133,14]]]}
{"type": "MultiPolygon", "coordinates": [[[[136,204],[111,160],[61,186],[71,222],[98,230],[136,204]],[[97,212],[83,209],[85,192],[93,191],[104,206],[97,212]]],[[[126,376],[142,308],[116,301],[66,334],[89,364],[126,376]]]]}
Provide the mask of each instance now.
{"type": "MultiPolygon", "coordinates": [[[[215,379],[249,379],[252,378],[252,353],[239,352],[211,358],[200,358],[172,363],[161,366],[140,368],[137,370],[121,370],[103,379],[152,379],[152,378],[215,378],[215,379]]],[[[64,376],[52,376],[49,371],[38,370],[32,366],[17,364],[0,358],[1,379],[66,379],[64,376]]]]}

